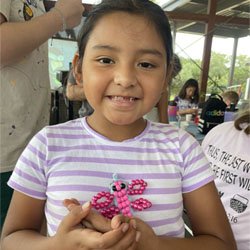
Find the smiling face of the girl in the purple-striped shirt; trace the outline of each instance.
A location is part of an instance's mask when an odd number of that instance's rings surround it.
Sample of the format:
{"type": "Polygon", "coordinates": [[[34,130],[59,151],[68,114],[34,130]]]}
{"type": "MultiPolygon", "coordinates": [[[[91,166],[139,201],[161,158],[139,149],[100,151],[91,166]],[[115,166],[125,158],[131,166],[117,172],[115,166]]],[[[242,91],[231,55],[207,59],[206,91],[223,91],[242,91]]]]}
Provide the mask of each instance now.
{"type": "Polygon", "coordinates": [[[145,17],[125,12],[102,17],[86,44],[80,73],[95,110],[89,124],[143,122],[166,88],[166,56],[160,35],[145,17]]]}

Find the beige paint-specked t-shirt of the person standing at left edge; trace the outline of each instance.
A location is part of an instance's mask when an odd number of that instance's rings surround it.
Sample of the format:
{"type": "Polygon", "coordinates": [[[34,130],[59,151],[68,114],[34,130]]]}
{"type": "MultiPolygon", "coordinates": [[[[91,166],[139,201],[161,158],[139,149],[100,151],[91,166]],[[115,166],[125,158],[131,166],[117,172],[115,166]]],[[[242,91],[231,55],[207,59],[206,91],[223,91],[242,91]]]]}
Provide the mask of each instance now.
{"type": "MultiPolygon", "coordinates": [[[[43,1],[1,0],[7,22],[24,22],[45,12],[43,1]]],[[[26,34],[33,39],[32,34],[26,34]]],[[[48,44],[0,68],[0,172],[12,171],[32,136],[49,124],[48,44]]]]}

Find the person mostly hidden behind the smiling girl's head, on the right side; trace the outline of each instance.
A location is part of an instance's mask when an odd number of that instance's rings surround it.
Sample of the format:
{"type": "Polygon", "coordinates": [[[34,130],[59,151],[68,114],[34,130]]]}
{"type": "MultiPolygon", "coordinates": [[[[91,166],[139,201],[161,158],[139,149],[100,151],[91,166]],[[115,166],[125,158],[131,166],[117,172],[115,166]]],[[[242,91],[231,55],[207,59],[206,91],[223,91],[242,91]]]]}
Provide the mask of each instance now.
{"type": "MultiPolygon", "coordinates": [[[[181,61],[178,55],[173,54],[173,59],[169,68],[172,74],[169,77],[168,85],[171,85],[172,80],[180,73],[182,69],[181,61]]],[[[145,119],[153,122],[169,123],[168,120],[168,91],[167,89],[162,92],[160,101],[156,104],[151,111],[144,115],[145,119]]]]}

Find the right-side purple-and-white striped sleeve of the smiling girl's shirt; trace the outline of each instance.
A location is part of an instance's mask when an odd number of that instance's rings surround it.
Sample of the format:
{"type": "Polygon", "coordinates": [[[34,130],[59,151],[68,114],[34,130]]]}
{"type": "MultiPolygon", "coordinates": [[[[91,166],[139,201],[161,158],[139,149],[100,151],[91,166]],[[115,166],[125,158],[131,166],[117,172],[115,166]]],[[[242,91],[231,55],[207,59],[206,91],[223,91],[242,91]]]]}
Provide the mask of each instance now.
{"type": "Polygon", "coordinates": [[[182,192],[187,193],[213,181],[215,175],[198,141],[185,131],[179,133],[183,157],[182,192]]]}

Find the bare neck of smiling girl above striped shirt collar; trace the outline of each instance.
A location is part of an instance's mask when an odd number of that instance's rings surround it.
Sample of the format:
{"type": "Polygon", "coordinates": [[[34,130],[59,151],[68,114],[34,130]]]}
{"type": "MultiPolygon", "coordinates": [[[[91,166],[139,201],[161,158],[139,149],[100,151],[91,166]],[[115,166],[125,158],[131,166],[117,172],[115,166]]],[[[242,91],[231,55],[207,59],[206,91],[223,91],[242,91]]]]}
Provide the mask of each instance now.
{"type": "Polygon", "coordinates": [[[140,118],[132,124],[117,125],[108,120],[97,120],[94,116],[87,118],[88,125],[97,133],[112,141],[125,141],[140,135],[147,126],[147,122],[140,118]]]}

